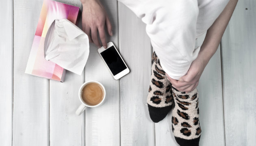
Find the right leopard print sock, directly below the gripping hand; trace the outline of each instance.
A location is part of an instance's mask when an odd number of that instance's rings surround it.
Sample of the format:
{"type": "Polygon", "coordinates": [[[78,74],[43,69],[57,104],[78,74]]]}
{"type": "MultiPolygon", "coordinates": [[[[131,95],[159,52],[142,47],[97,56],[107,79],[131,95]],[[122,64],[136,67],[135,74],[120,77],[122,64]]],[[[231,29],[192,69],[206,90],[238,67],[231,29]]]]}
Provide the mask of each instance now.
{"type": "Polygon", "coordinates": [[[199,122],[198,90],[185,93],[172,87],[174,105],[171,126],[180,146],[199,146],[201,127],[199,122]]]}

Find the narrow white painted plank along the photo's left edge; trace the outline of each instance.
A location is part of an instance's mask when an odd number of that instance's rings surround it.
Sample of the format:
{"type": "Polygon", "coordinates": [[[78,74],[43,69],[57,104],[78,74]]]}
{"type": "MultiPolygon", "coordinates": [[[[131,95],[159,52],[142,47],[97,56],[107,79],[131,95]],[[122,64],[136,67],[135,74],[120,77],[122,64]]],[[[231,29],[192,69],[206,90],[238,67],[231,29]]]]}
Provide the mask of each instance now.
{"type": "Polygon", "coordinates": [[[12,145],[13,118],[13,1],[0,1],[0,145],[12,145]]]}

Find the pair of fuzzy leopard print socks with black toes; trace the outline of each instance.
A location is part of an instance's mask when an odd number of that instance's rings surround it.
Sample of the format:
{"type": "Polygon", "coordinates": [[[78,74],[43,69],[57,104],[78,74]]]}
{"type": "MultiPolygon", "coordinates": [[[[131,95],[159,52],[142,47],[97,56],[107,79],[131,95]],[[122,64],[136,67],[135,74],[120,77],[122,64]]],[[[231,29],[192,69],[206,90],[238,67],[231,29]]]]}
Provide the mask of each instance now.
{"type": "Polygon", "coordinates": [[[170,125],[180,146],[198,146],[201,137],[198,90],[185,93],[171,86],[156,53],[152,54],[152,71],[148,91],[148,110],[153,122],[163,120],[172,110],[170,125]]]}

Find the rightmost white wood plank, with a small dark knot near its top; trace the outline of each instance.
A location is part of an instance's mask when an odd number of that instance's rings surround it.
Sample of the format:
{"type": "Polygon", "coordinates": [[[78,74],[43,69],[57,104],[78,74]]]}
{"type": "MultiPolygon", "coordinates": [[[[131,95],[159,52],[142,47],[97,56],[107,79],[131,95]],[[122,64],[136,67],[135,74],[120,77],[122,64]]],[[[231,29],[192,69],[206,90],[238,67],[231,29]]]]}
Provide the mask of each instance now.
{"type": "Polygon", "coordinates": [[[222,38],[226,146],[256,145],[255,14],[255,0],[239,0],[222,38]]]}

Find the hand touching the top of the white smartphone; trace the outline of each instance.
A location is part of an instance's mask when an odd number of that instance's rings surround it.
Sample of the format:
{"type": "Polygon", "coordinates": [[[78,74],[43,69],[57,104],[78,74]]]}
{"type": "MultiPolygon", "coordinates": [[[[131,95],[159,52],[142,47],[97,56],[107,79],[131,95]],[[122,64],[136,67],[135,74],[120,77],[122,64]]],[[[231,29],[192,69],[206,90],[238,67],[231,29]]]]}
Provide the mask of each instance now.
{"type": "Polygon", "coordinates": [[[105,25],[109,35],[113,35],[112,26],[108,15],[100,0],[81,0],[82,2],[82,30],[88,35],[89,42],[99,48],[103,45],[106,49],[105,25]],[[102,45],[98,40],[98,32],[102,45]]]}

